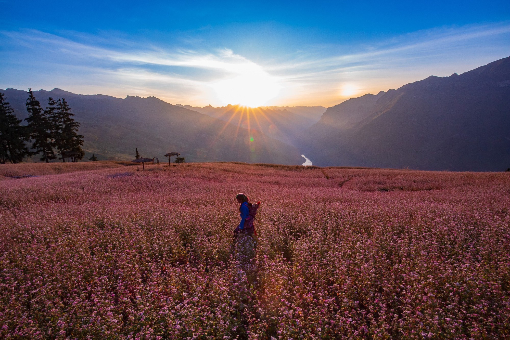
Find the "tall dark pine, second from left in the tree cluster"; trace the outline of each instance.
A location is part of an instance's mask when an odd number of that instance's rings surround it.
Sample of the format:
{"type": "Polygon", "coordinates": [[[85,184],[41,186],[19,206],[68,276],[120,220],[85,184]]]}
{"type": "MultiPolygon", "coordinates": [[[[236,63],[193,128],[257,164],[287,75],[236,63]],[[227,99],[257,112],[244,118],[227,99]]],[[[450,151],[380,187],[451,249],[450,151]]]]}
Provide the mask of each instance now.
{"type": "Polygon", "coordinates": [[[49,160],[57,158],[53,150],[52,121],[46,116],[45,111],[41,108],[41,103],[34,97],[34,93],[30,88],[26,105],[29,117],[25,120],[29,123],[30,138],[33,140],[32,149],[35,150],[36,154],[42,153],[41,161],[49,163],[49,160]]]}

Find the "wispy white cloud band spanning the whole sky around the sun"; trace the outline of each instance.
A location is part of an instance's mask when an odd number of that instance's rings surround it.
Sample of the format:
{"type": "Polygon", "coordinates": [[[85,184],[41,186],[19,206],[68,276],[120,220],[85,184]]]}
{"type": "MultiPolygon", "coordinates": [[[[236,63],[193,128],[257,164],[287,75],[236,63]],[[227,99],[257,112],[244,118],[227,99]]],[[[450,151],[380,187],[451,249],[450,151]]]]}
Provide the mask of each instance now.
{"type": "Polygon", "coordinates": [[[37,82],[78,92],[97,89],[117,96],[156,95],[174,103],[224,104],[214,84],[262,74],[281,89],[270,104],[330,105],[345,99],[341,89],[346,84],[362,95],[503,58],[509,35],[508,22],[437,28],[370,44],[299,46],[285,60],[255,63],[224,47],[163,48],[121,40],[107,45],[93,36],[2,32],[0,86],[35,87],[37,82]]]}

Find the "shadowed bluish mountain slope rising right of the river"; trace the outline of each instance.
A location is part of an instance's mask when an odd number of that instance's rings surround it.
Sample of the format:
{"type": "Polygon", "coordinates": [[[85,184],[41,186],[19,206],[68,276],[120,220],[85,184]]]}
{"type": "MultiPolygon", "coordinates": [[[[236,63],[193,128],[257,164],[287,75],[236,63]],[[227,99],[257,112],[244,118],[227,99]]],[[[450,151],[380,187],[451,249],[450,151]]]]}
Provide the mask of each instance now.
{"type": "Polygon", "coordinates": [[[362,107],[366,96],[336,106],[336,114],[329,108],[303,133],[303,150],[315,165],[461,171],[510,166],[510,58],[377,96],[375,104],[374,96],[368,98],[371,110],[362,107]],[[354,124],[340,112],[347,104],[362,107],[354,124]]]}

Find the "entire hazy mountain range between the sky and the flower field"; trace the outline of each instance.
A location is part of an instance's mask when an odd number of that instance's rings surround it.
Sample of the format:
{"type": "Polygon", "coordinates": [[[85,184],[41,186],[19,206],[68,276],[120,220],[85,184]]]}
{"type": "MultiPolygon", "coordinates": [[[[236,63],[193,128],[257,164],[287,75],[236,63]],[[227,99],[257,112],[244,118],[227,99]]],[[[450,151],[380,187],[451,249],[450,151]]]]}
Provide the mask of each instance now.
{"type": "MultiPolygon", "coordinates": [[[[21,119],[21,90],[1,90],[21,119]]],[[[82,125],[87,157],[301,164],[422,170],[501,171],[510,167],[510,57],[447,77],[330,107],[214,108],[156,97],[34,91],[44,107],[64,97],[82,125]]]]}

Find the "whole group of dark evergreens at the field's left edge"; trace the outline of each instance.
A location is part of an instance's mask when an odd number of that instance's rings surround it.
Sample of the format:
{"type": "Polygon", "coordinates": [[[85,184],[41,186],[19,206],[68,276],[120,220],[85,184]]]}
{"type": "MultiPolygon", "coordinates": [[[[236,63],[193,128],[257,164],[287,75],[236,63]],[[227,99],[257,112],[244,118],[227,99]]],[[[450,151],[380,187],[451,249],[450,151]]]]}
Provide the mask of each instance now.
{"type": "Polygon", "coordinates": [[[19,163],[35,154],[40,154],[41,161],[46,163],[57,158],[65,163],[69,153],[73,154],[73,162],[83,158],[83,136],[78,134],[80,123],[72,118],[74,114],[64,98],[49,97],[43,109],[29,88],[26,106],[28,124],[21,125],[21,119],[0,92],[0,163],[19,163]]]}

